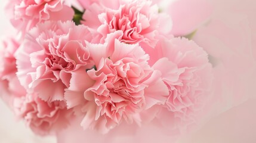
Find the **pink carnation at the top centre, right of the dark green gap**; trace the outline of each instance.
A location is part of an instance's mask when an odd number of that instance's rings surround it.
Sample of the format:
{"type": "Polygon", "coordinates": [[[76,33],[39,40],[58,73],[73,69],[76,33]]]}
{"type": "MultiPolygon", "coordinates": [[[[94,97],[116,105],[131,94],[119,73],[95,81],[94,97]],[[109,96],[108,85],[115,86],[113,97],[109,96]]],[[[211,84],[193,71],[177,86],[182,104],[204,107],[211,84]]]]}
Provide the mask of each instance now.
{"type": "Polygon", "coordinates": [[[159,14],[157,5],[151,3],[151,1],[120,1],[113,2],[111,6],[101,4],[104,7],[94,3],[88,11],[85,11],[83,15],[85,21],[82,23],[97,29],[101,42],[107,34],[122,30],[124,34],[121,42],[131,44],[143,42],[154,47],[158,42],[156,36],[171,30],[171,20],[168,15],[159,14]]]}

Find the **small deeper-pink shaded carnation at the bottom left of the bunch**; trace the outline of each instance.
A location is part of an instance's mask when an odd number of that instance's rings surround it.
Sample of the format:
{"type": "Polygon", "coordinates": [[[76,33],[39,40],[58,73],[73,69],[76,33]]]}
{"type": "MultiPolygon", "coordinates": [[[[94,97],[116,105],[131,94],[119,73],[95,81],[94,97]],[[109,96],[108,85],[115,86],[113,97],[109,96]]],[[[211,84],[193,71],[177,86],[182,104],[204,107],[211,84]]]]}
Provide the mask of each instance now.
{"type": "Polygon", "coordinates": [[[45,102],[36,94],[15,98],[14,111],[39,135],[51,135],[66,128],[71,115],[64,101],[45,102]]]}

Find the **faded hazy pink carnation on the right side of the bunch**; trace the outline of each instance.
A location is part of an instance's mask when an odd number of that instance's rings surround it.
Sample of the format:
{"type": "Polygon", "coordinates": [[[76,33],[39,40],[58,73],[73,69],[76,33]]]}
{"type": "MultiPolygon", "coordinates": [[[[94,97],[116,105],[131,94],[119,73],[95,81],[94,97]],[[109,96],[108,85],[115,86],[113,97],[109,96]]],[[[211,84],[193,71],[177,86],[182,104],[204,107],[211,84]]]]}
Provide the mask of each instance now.
{"type": "Polygon", "coordinates": [[[161,71],[169,89],[165,107],[156,117],[169,132],[186,132],[201,117],[211,97],[212,66],[208,54],[185,38],[162,40],[148,52],[153,57],[153,69],[161,71]]]}

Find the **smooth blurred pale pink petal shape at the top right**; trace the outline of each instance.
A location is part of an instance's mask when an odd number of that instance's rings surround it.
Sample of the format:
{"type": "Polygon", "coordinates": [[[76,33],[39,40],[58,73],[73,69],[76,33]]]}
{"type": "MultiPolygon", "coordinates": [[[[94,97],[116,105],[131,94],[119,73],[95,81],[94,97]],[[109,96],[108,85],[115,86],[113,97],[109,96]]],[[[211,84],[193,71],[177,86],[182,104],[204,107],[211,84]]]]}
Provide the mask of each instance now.
{"type": "Polygon", "coordinates": [[[175,36],[184,36],[209,21],[212,5],[208,0],[177,0],[171,2],[163,12],[172,18],[171,33],[175,36]]]}

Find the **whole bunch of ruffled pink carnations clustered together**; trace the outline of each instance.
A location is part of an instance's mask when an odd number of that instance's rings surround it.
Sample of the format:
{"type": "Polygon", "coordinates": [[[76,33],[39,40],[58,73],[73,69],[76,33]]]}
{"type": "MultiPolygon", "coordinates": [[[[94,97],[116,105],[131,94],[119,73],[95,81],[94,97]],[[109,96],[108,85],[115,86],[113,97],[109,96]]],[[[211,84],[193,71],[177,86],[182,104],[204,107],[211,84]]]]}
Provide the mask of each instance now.
{"type": "Polygon", "coordinates": [[[208,54],[176,37],[154,2],[9,1],[19,36],[1,46],[2,97],[36,133],[74,118],[101,133],[153,120],[183,132],[198,119],[211,95],[208,54]]]}

